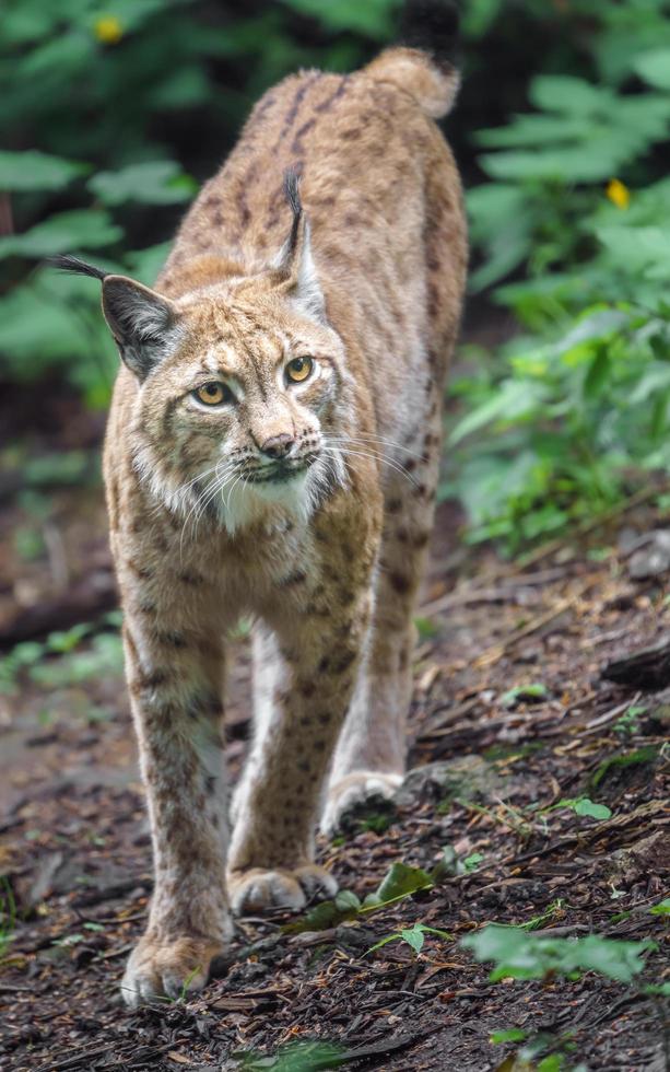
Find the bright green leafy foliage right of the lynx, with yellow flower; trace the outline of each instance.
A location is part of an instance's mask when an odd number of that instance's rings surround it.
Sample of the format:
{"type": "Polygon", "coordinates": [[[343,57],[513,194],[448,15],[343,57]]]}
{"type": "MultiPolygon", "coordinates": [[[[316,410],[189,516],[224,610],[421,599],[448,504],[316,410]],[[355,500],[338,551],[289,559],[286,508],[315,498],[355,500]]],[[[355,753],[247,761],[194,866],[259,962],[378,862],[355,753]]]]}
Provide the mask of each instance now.
{"type": "MultiPolygon", "coordinates": [[[[539,27],[546,8],[532,5],[539,27]]],[[[532,110],[475,136],[490,182],[468,197],[472,288],[497,284],[524,334],[472,352],[452,385],[463,413],[443,494],[463,500],[471,540],[510,552],[670,463],[667,4],[569,8],[592,20],[578,72],[536,74],[532,110]]]]}

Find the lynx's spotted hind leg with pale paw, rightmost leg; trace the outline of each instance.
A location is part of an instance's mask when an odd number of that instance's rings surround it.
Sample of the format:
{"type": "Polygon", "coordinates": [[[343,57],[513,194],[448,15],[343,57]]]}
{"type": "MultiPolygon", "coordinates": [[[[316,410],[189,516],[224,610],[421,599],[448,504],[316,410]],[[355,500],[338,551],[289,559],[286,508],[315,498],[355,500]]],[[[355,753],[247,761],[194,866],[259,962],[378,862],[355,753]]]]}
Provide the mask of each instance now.
{"type": "Polygon", "coordinates": [[[438,405],[414,454],[403,458],[407,478],[389,481],[376,582],[372,643],[340,737],[321,830],[333,834],[348,813],[388,802],[402,784],[405,721],[412,699],[413,614],[426,558],[440,456],[438,405]]]}

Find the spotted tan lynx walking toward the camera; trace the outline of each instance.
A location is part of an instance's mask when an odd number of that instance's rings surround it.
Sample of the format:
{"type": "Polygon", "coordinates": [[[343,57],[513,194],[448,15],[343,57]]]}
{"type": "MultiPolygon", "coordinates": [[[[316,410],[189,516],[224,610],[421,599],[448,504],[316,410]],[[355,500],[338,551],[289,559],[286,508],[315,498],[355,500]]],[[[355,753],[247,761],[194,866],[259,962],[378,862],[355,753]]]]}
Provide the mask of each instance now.
{"type": "Polygon", "coordinates": [[[105,445],[128,688],[155,865],[122,981],[197,989],[231,913],[332,895],[315,829],[404,771],[412,613],[467,242],[434,123],[457,75],[384,51],[261,98],[155,289],[102,281],[122,359],[105,445]],[[226,631],[256,622],[232,803],[226,631]]]}

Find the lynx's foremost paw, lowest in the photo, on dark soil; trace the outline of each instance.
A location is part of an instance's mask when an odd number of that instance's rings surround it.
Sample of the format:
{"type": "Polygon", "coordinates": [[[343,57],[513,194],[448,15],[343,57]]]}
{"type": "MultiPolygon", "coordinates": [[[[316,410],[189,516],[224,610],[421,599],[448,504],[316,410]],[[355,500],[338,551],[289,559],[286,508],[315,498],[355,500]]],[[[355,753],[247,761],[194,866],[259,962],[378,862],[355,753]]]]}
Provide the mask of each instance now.
{"type": "Polygon", "coordinates": [[[167,942],[145,934],[126,966],[121,980],[124,1001],[137,1009],[152,998],[174,1000],[187,991],[201,990],[210,964],[221,949],[220,942],[193,937],[167,942]]]}

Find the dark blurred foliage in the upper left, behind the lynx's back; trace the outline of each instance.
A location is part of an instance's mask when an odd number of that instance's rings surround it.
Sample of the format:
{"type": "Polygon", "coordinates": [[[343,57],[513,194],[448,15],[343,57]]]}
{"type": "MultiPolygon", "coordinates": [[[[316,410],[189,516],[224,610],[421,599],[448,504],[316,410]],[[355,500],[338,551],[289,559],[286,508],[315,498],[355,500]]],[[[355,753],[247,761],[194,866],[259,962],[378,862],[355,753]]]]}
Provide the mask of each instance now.
{"type": "Polygon", "coordinates": [[[64,378],[89,406],[105,407],[118,357],[99,287],[34,261],[87,253],[153,282],[184,206],[254,101],[301,67],[355,67],[391,35],[397,8],[9,0],[0,40],[0,191],[13,224],[0,237],[3,378],[64,378]]]}

